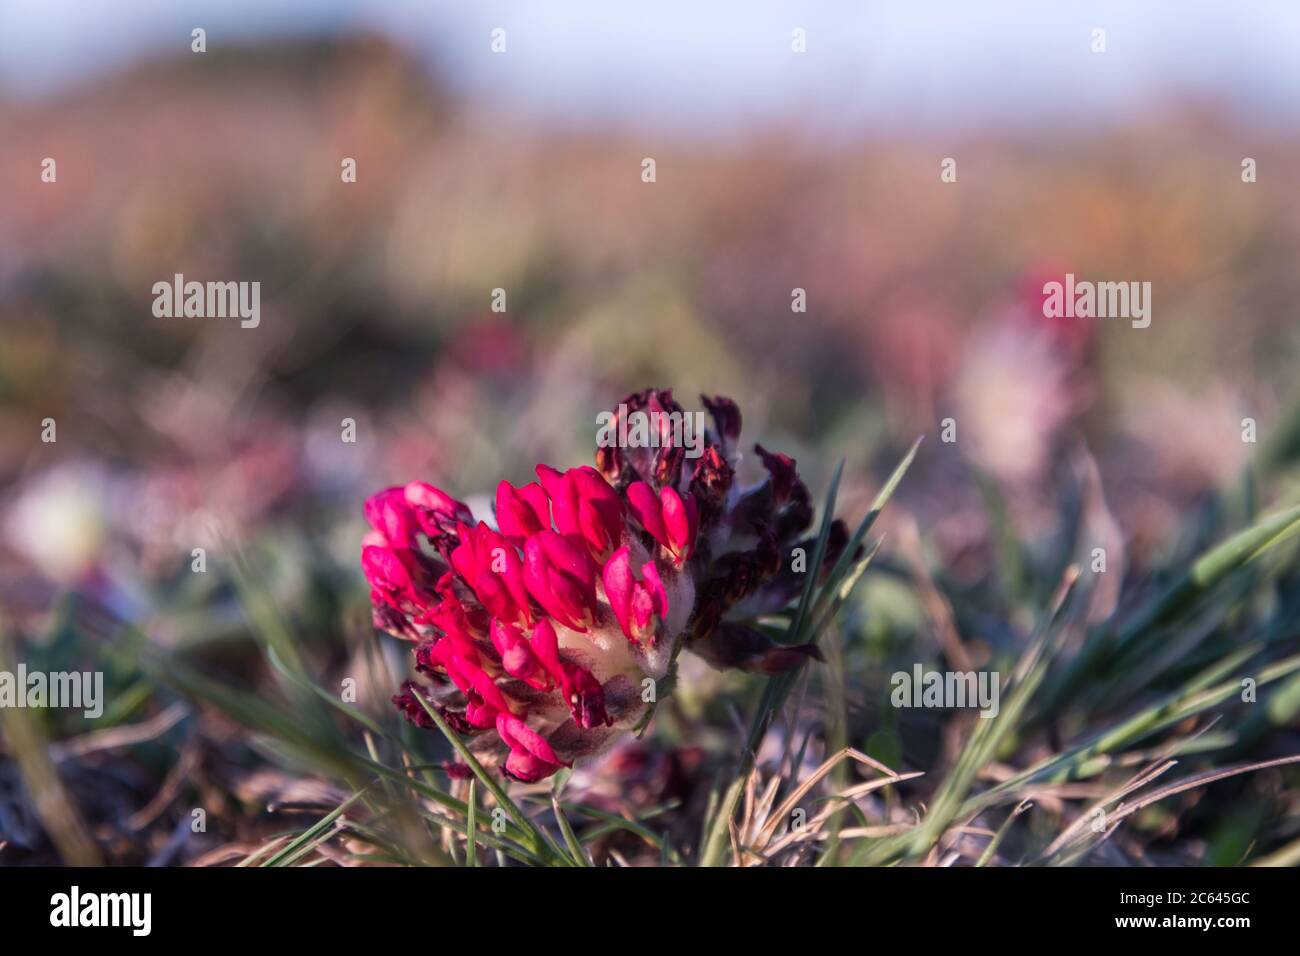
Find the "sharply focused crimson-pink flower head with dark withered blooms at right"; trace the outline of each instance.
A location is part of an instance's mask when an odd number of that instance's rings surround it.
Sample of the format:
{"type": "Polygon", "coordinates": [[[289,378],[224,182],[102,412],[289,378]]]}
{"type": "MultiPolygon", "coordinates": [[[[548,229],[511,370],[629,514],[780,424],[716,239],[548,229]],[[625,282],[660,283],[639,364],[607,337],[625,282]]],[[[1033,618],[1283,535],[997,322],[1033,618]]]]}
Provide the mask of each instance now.
{"type": "MultiPolygon", "coordinates": [[[[365,502],[374,623],[415,643],[429,680],[394,697],[408,719],[433,724],[422,697],[485,762],[534,782],[634,727],[682,648],[764,671],[815,653],[745,623],[800,589],[783,550],[811,522],[807,489],[762,447],[767,477],[738,488],[740,411],[705,403],[698,458],[663,445],[602,447],[599,470],[540,464],[537,481],[498,485],[495,528],[422,481],[365,502]]],[[[681,411],[655,389],[620,407],[681,411]]]]}

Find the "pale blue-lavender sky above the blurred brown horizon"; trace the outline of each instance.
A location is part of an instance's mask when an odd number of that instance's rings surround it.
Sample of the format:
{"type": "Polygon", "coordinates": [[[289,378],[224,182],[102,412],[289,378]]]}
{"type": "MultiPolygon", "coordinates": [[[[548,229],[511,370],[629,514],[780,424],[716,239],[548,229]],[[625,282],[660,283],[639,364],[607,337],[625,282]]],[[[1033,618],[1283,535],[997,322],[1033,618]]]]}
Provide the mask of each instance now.
{"type": "Polygon", "coordinates": [[[1300,127],[1300,0],[0,0],[0,86],[187,52],[194,26],[209,48],[367,26],[469,92],[572,124],[1086,124],[1190,96],[1300,127]]]}

